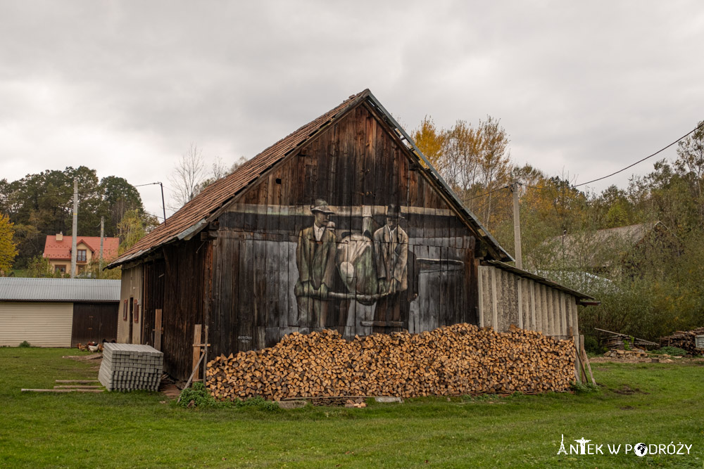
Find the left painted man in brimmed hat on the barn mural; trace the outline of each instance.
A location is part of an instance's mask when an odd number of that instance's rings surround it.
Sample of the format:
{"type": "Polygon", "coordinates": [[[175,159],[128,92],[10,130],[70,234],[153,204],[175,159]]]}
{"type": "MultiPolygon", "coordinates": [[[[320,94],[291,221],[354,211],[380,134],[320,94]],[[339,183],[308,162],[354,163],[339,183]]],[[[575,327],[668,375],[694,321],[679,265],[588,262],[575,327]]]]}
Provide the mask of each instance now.
{"type": "Polygon", "coordinates": [[[327,293],[334,280],[337,250],[334,224],[330,221],[330,215],[334,212],[322,199],[315,200],[310,212],[315,217],[313,226],[298,233],[298,281],[294,293],[298,302],[299,325],[325,327],[330,308],[327,293]]]}

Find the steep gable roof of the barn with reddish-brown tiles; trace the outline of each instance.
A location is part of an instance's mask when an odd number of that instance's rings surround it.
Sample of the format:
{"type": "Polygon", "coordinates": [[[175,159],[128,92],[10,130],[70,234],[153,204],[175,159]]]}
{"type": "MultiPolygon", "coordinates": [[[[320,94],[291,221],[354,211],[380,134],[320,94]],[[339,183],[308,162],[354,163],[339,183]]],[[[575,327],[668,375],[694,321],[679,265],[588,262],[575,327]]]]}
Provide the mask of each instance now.
{"type": "Polygon", "coordinates": [[[302,146],[303,143],[317,136],[321,131],[325,131],[329,124],[345,115],[348,110],[355,108],[365,101],[375,108],[391,130],[396,133],[396,137],[401,140],[403,146],[405,146],[415,158],[426,165],[423,173],[434,181],[437,188],[446,195],[451,205],[454,205],[455,210],[460,213],[460,216],[464,217],[473,231],[477,232],[477,235],[489,245],[490,250],[494,252],[496,257],[500,260],[513,261],[513,257],[501,248],[498,241],[491,236],[479,219],[465,207],[439,172],[437,172],[427,158],[425,158],[425,155],[423,155],[420,149],[415,146],[415,143],[410,139],[406,131],[394,120],[391,113],[386,111],[384,106],[379,103],[369,89],[365,89],[364,91],[349,96],[349,98],[342,103],[327,111],[327,113],[323,113],[320,117],[308,122],[308,124],[298,127],[298,129],[291,132],[291,134],[285,136],[283,139],[279,139],[279,141],[265,148],[265,150],[258,153],[258,155],[244,162],[241,167],[237,168],[232,174],[206,186],[199,195],[189,200],[189,202],[184,204],[175,214],[153,229],[144,236],[144,238],[137,241],[132,248],[123,253],[118,259],[111,262],[111,264],[108,264],[106,268],[111,269],[120,264],[137,260],[147,255],[149,252],[156,250],[156,248],[161,245],[176,240],[190,239],[208,224],[208,221],[216,212],[219,212],[225,205],[232,202],[237,195],[253,184],[259,176],[287,158],[294,150],[302,146]]]}

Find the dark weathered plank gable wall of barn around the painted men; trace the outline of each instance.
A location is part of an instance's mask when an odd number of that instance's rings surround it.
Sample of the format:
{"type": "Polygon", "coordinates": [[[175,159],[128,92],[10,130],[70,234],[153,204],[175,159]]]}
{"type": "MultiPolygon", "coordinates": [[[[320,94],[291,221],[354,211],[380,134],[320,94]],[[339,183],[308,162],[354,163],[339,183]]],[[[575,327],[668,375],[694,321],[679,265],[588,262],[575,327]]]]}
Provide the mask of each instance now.
{"type": "Polygon", "coordinates": [[[359,105],[220,214],[213,241],[213,353],[268,347],[294,330],[336,328],[352,337],[477,323],[475,238],[406,151],[373,110],[359,105]],[[305,297],[296,296],[296,250],[305,243],[303,230],[313,226],[310,207],[319,199],[334,212],[334,241],[326,243],[334,243],[337,262],[327,287],[337,296],[316,303],[323,312],[310,314],[315,308],[299,307],[305,297]],[[408,236],[401,248],[382,236],[389,204],[400,208],[399,226],[408,236]],[[350,257],[352,247],[361,254],[350,257]],[[372,299],[381,285],[372,261],[392,248],[407,251],[406,288],[393,302],[391,295],[372,299]]]}

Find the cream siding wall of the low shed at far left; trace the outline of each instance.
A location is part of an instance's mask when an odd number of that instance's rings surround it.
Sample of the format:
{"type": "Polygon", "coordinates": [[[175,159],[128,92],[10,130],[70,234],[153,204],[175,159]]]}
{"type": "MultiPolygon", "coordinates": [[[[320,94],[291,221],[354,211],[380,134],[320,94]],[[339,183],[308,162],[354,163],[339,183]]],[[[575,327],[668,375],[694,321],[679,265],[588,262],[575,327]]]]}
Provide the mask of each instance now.
{"type": "Polygon", "coordinates": [[[0,302],[0,345],[70,347],[73,303],[0,302]]]}

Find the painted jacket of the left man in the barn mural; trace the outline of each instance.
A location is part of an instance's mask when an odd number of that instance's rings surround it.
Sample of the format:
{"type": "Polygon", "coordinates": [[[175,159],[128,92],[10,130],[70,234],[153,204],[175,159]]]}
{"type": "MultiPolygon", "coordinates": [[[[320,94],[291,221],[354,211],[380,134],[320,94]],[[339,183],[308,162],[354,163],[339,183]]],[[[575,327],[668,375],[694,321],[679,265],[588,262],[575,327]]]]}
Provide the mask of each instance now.
{"type": "Polygon", "coordinates": [[[296,246],[296,266],[298,267],[298,281],[310,282],[315,290],[325,283],[327,288],[332,287],[335,274],[335,233],[330,229],[322,232],[320,241],[315,240],[313,226],[302,229],[298,233],[298,246],[296,246]]]}

